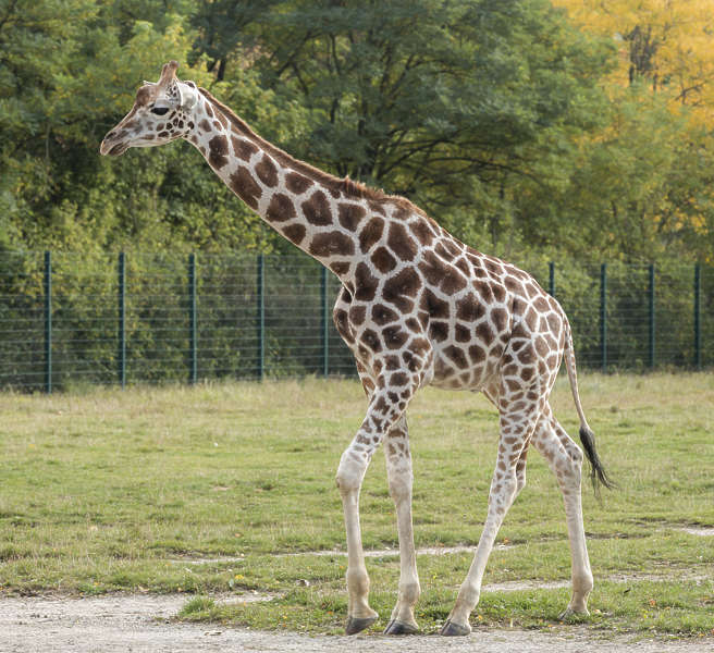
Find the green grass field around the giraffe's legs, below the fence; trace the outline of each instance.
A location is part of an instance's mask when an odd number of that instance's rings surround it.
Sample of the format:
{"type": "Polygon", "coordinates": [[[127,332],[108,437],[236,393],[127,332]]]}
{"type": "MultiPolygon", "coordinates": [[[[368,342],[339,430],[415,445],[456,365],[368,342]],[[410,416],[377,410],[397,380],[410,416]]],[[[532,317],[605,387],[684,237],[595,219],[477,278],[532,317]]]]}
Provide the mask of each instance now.
{"type": "MultiPolygon", "coordinates": [[[[584,489],[589,627],[714,634],[714,538],[684,530],[714,527],[714,377],[584,374],[580,385],[619,484],[602,504],[584,489]]],[[[566,380],[552,403],[577,433],[566,380]]],[[[364,410],[357,383],[315,379],[1,394],[0,593],[186,592],[185,619],[342,631],[346,558],[309,552],[344,549],[334,472],[364,410]],[[209,597],[245,590],[275,597],[209,597]]],[[[480,395],[428,390],[409,417],[417,545],[476,544],[495,461],[493,409],[480,395]]],[[[381,453],[361,512],[365,546],[396,547],[381,453]]],[[[569,578],[562,500],[534,452],[500,542],[512,546],[493,552],[485,583],[569,578]]],[[[465,553],[419,557],[424,631],[446,617],[469,563],[465,553]]],[[[367,565],[385,618],[397,559],[367,565]]],[[[568,593],[484,591],[472,623],[551,627],[568,593]]]]}

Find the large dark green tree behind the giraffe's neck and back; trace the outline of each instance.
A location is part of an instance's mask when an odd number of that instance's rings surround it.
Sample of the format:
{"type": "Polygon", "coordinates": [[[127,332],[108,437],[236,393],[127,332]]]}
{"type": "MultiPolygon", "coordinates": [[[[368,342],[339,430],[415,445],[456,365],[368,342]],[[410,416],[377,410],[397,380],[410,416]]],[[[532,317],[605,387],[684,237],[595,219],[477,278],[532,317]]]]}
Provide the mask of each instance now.
{"type": "Polygon", "coordinates": [[[298,153],[428,207],[539,175],[533,150],[595,121],[608,57],[540,1],[303,1],[251,29],[263,83],[310,112],[298,153]]]}

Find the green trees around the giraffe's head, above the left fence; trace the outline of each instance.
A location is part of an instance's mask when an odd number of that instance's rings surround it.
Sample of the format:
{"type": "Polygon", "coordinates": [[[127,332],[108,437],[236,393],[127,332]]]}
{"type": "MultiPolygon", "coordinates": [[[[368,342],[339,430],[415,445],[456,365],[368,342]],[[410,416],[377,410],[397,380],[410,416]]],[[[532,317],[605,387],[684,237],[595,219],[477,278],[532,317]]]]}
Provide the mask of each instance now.
{"type": "MultiPolygon", "coordinates": [[[[176,144],[116,161],[97,152],[141,79],[167,59],[188,58],[196,34],[187,28],[187,4],[0,4],[0,246],[267,246],[259,221],[213,183],[193,148],[176,144]],[[184,15],[164,14],[167,8],[184,15]],[[186,165],[192,157],[195,165],[186,165]]],[[[202,61],[182,74],[212,82],[202,61]]],[[[257,93],[247,78],[234,88],[257,93]]]]}

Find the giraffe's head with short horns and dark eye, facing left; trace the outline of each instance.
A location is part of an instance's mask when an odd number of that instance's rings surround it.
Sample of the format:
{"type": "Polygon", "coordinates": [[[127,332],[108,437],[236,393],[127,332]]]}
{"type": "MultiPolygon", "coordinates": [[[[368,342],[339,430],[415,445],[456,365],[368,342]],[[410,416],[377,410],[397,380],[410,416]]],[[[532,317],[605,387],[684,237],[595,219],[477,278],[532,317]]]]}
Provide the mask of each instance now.
{"type": "Polygon", "coordinates": [[[152,147],[185,136],[194,126],[192,110],[198,101],[193,82],[176,78],[178,64],[170,61],[156,84],[145,82],[134,107],[101,141],[102,155],[118,157],[130,147],[152,147]]]}

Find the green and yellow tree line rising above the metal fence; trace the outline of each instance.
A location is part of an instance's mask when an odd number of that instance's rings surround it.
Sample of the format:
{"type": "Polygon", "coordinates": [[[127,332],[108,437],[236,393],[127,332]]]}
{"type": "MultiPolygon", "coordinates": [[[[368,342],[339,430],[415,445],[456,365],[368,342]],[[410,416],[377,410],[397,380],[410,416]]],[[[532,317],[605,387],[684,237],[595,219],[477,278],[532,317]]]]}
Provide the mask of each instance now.
{"type": "Polygon", "coordinates": [[[176,59],[261,135],[479,249],[711,262],[711,11],[604,4],[0,0],[0,249],[287,246],[185,144],[100,159],[176,59]]]}

